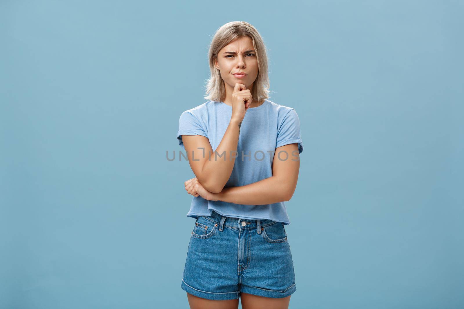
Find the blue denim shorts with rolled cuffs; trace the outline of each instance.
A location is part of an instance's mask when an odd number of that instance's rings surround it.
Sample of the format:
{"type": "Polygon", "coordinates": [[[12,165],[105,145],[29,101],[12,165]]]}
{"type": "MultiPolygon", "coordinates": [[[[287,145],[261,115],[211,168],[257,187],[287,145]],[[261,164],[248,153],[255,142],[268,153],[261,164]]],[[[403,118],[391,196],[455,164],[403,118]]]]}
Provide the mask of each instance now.
{"type": "Polygon", "coordinates": [[[296,291],[284,224],[199,216],[187,249],[180,287],[194,296],[226,300],[240,293],[282,298],[296,291]]]}

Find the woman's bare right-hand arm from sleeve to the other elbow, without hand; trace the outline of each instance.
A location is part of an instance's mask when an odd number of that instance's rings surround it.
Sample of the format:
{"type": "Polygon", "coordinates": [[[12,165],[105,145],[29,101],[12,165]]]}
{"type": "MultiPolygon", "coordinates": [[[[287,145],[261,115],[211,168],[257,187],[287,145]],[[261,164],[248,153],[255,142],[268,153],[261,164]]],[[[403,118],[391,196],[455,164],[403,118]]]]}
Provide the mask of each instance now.
{"type": "MultiPolygon", "coordinates": [[[[288,144],[276,148],[272,161],[272,176],[256,183],[240,187],[229,187],[213,194],[211,200],[245,205],[264,205],[289,201],[295,192],[300,169],[298,144],[288,144]],[[279,151],[283,152],[278,158],[279,151]]],[[[206,188],[205,188],[206,189],[206,188]]]]}

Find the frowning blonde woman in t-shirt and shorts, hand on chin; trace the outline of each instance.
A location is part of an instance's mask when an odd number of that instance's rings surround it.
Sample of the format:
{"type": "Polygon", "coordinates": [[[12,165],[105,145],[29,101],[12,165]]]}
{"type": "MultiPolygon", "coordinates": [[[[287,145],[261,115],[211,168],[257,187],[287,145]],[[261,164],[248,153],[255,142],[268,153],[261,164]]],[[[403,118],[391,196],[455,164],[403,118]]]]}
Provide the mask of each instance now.
{"type": "Polygon", "coordinates": [[[249,23],[221,26],[209,49],[206,100],[180,115],[179,145],[195,178],[196,218],[181,288],[191,308],[288,308],[295,272],[285,208],[303,151],[294,108],[269,98],[263,39],[249,23]],[[214,151],[213,151],[214,150],[214,151]]]}

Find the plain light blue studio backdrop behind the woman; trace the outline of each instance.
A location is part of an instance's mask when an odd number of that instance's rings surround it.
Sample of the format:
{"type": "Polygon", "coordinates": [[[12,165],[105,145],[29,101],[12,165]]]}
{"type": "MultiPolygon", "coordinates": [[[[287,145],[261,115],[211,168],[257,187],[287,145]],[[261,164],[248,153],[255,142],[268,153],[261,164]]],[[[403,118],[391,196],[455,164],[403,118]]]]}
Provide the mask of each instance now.
{"type": "Polygon", "coordinates": [[[0,308],[188,308],[180,114],[254,25],[304,151],[290,308],[463,308],[462,1],[0,3],[0,308]],[[178,158],[178,157],[176,157],[178,158]]]}

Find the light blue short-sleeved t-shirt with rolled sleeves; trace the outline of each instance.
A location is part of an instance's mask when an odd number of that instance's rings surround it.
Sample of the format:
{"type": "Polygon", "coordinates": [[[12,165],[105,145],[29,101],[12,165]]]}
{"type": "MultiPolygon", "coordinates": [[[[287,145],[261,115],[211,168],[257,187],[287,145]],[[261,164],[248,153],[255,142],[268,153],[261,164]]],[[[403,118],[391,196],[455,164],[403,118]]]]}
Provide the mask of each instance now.
{"type": "MultiPolygon", "coordinates": [[[[177,139],[185,150],[181,135],[202,135],[209,139],[211,148],[216,151],[232,116],[232,106],[219,101],[207,101],[180,115],[177,139]]],[[[269,100],[258,107],[249,108],[240,126],[237,154],[232,174],[225,187],[245,186],[272,176],[272,160],[276,148],[298,143],[298,152],[303,151],[300,133],[300,120],[294,108],[286,107],[269,100]],[[268,152],[272,151],[272,152],[268,152]],[[242,160],[243,156],[243,160],[242,160]]],[[[205,151],[205,156],[209,154],[205,151]]],[[[218,153],[217,160],[224,160],[218,153]]],[[[233,155],[233,152],[232,152],[233,155]]],[[[282,152],[281,160],[287,158],[282,152]]],[[[296,159],[288,153],[288,160],[296,159]]],[[[214,160],[214,155],[211,158],[214,160]]],[[[210,216],[213,210],[226,217],[241,219],[269,219],[290,224],[284,202],[266,205],[244,205],[222,201],[208,201],[193,196],[187,217],[210,216]]]]}

